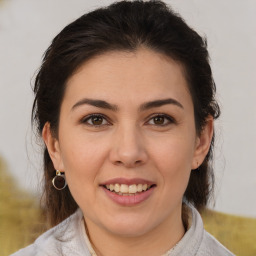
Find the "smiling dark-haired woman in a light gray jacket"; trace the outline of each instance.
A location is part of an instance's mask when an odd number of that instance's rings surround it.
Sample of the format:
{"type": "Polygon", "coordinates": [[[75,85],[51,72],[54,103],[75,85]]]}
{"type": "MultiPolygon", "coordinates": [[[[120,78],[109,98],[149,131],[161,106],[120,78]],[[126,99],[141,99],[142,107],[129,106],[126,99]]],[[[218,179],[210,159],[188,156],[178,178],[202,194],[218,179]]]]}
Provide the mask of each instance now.
{"type": "Polygon", "coordinates": [[[161,1],[83,15],[34,92],[55,227],[14,255],[232,255],[198,213],[220,111],[206,42],[179,15],[161,1]]]}

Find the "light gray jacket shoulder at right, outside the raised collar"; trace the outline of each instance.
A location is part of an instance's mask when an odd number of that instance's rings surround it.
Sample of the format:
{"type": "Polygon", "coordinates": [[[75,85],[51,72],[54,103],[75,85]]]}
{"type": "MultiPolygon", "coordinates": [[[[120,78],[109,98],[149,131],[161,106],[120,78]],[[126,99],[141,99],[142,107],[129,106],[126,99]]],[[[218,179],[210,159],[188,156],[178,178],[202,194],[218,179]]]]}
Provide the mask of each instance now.
{"type": "Polygon", "coordinates": [[[198,256],[232,256],[227,248],[225,248],[211,234],[204,230],[203,239],[198,249],[198,256]]]}

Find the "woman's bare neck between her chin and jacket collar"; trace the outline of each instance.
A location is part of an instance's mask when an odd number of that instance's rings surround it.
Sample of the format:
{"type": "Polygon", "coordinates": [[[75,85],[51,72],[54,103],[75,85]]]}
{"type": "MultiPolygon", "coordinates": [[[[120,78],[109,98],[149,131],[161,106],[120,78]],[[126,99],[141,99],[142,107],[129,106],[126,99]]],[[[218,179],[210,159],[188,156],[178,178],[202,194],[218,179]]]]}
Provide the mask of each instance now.
{"type": "Polygon", "coordinates": [[[97,256],[160,256],[173,248],[185,233],[181,213],[178,219],[171,216],[146,234],[134,237],[113,234],[87,219],[86,224],[97,256]]]}

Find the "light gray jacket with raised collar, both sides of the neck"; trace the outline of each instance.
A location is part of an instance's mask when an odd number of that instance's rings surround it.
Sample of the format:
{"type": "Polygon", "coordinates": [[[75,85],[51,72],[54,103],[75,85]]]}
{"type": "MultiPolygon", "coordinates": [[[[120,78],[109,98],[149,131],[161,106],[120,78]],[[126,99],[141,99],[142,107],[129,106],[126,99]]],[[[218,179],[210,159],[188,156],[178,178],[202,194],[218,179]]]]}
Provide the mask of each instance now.
{"type": "MultiPolygon", "coordinates": [[[[198,211],[191,208],[188,231],[168,256],[231,256],[222,244],[204,230],[198,211]]],[[[11,256],[91,256],[96,255],[83,225],[83,214],[77,210],[68,219],[42,234],[32,245],[11,256]]]]}

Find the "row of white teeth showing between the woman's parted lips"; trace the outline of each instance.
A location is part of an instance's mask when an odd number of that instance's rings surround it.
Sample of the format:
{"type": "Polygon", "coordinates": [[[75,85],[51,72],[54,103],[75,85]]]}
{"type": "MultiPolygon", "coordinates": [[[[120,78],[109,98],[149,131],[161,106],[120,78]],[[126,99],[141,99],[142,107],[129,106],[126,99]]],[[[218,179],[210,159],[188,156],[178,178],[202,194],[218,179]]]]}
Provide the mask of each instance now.
{"type": "Polygon", "coordinates": [[[107,184],[103,185],[103,187],[117,195],[120,196],[135,196],[141,194],[145,191],[148,191],[152,187],[156,185],[148,185],[148,184],[107,184]]]}

